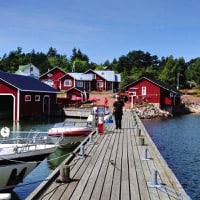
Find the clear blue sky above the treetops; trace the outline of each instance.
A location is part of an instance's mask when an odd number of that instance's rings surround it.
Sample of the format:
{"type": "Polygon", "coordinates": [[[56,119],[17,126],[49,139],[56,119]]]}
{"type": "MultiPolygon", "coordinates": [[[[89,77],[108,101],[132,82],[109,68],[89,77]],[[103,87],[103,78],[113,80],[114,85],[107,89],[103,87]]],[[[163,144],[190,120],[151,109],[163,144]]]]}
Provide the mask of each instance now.
{"type": "Polygon", "coordinates": [[[133,50],[200,57],[199,0],[0,1],[0,57],[17,50],[112,61],[133,50]]]}

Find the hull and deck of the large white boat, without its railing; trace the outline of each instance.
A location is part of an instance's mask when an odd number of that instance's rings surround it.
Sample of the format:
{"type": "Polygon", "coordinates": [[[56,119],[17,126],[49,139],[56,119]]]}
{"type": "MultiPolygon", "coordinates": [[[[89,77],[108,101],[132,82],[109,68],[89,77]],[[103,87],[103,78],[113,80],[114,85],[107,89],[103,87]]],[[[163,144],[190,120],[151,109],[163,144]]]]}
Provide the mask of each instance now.
{"type": "Polygon", "coordinates": [[[22,146],[1,144],[0,148],[0,191],[11,191],[33,171],[50,153],[55,145],[22,146]],[[26,147],[26,148],[24,148],[26,147]],[[36,149],[37,148],[37,149],[36,149]],[[6,149],[6,152],[4,152],[6,149]]]}

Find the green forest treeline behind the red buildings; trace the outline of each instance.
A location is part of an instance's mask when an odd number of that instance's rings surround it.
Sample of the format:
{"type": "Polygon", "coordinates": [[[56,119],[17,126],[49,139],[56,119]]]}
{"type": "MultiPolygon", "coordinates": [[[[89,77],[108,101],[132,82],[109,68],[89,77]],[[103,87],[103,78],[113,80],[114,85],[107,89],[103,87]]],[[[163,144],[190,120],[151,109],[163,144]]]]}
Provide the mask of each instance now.
{"type": "Polygon", "coordinates": [[[55,66],[66,72],[85,72],[93,70],[114,70],[121,74],[121,88],[137,80],[142,76],[161,80],[177,89],[199,87],[200,86],[200,57],[186,62],[183,57],[158,58],[149,52],[133,50],[127,55],[122,55],[112,62],[106,60],[102,64],[91,62],[89,57],[80,49],[72,49],[72,55],[60,55],[57,50],[50,47],[47,53],[35,52],[23,53],[22,48],[10,51],[0,58],[0,71],[14,73],[19,65],[32,63],[39,68],[40,74],[47,72],[55,66]]]}

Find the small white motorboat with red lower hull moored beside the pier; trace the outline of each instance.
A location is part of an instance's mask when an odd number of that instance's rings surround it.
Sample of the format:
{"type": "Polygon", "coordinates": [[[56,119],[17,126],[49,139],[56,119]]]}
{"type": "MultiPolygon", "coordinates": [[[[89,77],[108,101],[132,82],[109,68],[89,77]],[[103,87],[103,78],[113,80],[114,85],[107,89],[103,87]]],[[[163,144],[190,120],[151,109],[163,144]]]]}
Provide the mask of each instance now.
{"type": "Polygon", "coordinates": [[[93,131],[88,122],[60,122],[48,131],[49,136],[86,136],[93,131]]]}

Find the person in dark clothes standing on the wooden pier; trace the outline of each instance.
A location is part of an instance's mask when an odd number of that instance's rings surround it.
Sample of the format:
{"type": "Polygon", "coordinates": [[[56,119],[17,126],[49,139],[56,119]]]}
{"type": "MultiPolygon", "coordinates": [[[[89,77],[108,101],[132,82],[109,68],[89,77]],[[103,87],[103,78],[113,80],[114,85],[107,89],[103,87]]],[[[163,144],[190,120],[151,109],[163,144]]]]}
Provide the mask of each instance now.
{"type": "Polygon", "coordinates": [[[124,102],[120,100],[120,97],[117,95],[116,100],[113,103],[113,115],[115,117],[116,129],[122,128],[122,115],[123,115],[124,102]]]}

